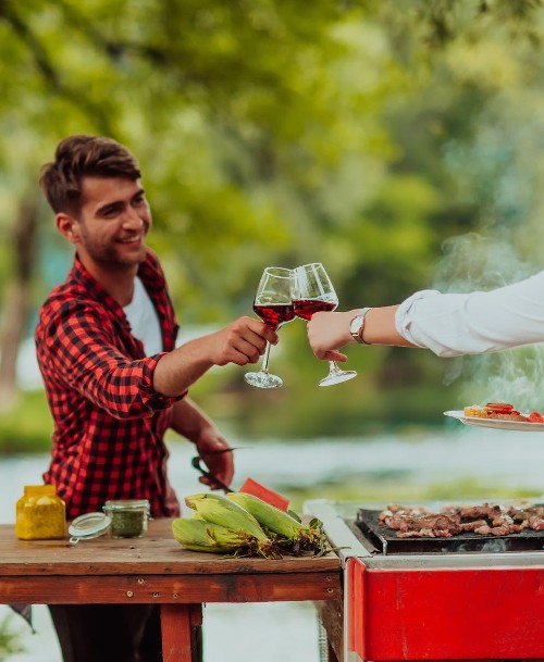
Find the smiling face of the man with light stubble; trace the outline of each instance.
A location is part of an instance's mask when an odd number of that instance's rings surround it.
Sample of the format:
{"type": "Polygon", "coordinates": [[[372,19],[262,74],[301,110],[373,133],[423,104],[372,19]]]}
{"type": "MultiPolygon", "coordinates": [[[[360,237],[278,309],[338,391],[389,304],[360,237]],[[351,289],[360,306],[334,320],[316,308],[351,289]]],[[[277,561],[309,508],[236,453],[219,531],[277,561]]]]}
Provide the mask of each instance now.
{"type": "Polygon", "coordinates": [[[82,207],[74,224],[79,257],[102,268],[135,266],[146,259],[151,212],[138,180],[84,177],[82,207]]]}

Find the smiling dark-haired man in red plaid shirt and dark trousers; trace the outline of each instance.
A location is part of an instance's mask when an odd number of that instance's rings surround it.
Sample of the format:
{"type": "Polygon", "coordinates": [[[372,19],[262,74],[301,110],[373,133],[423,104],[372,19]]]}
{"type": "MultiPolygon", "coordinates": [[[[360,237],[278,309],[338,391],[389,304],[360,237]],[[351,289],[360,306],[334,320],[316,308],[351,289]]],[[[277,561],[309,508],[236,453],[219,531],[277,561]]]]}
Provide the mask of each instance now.
{"type": "MultiPolygon", "coordinates": [[[[119,142],[72,136],[44,166],[40,187],[74,265],[42,305],[35,339],[54,422],[44,475],[69,520],[109,499],[148,499],[151,516],[178,516],[164,434],[196,446],[211,489],[228,485],[232,452],[187,397],[214,365],[255,363],[277,336],[240,317],[175,348],[178,330],[158,258],[146,247],[151,212],[135,158],[119,142]],[[220,451],[220,452],[218,452],[220,451]],[[218,480],[215,480],[217,478],[218,480]]],[[[160,622],[147,605],[50,605],[65,662],[159,662],[160,622]],[[109,634],[106,636],[106,632],[109,634]]]]}

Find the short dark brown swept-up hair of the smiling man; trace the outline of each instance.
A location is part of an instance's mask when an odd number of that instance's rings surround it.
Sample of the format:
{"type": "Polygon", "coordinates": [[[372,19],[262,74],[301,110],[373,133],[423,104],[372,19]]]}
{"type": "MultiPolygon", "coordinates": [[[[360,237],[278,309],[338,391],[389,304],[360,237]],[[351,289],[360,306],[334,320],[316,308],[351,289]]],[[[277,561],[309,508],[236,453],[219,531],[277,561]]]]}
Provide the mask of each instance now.
{"type": "Polygon", "coordinates": [[[141,174],[136,159],[112,138],[70,136],[57,147],[54,161],[40,172],[39,186],[55,213],[79,213],[85,176],[136,180],[141,174]]]}

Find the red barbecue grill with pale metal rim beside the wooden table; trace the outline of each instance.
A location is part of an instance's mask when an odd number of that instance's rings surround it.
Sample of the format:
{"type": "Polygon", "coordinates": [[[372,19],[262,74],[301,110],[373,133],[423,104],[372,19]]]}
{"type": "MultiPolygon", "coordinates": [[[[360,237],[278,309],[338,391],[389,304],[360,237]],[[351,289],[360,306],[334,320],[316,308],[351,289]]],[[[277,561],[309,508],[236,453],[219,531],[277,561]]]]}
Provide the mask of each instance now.
{"type": "Polygon", "coordinates": [[[305,504],[344,569],[343,602],[317,604],[331,662],[544,659],[544,532],[398,538],[386,505],[305,504]]]}

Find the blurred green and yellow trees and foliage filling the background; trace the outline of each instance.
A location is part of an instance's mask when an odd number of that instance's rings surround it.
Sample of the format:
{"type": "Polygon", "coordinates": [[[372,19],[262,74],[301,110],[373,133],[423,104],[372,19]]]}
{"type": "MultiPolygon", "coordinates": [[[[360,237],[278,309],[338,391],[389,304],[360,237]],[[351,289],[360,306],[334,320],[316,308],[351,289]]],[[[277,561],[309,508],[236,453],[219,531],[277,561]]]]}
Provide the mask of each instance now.
{"type": "MultiPolygon", "coordinates": [[[[541,267],[541,1],[400,4],[0,3],[0,449],[49,446],[39,385],[21,380],[37,309],[72,260],[37,187],[69,134],[113,136],[139,159],[186,337],[252,314],[270,264],[323,262],[341,309],[541,267]]],[[[516,375],[541,361],[539,348],[441,360],[350,347],[358,379],[320,389],[304,323],[280,333],[282,389],[251,389],[237,366],[193,389],[234,436],[442,425],[443,410],[491,397],[521,407],[516,375]],[[507,371],[519,395],[493,392],[507,371]]]]}

